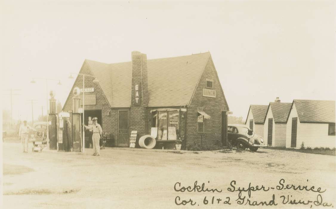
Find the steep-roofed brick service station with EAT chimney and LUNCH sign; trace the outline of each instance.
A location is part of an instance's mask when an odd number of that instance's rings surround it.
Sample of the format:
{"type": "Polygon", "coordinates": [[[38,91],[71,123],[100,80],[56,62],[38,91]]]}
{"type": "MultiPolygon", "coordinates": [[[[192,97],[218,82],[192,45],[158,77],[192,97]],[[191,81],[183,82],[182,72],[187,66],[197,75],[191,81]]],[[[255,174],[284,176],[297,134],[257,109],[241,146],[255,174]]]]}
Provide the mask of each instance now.
{"type": "MultiPolygon", "coordinates": [[[[80,73],[99,81],[85,77],[85,124],[88,117],[98,117],[118,147],[129,145],[132,130],[139,136],[154,130],[156,148],[172,148],[176,135],[185,138],[182,148],[218,140],[226,145],[229,109],[210,52],[147,60],[134,51],[131,60],[84,61],[80,73]]],[[[72,112],[72,92],[82,88],[82,79],[76,78],[63,111],[72,112]]]]}

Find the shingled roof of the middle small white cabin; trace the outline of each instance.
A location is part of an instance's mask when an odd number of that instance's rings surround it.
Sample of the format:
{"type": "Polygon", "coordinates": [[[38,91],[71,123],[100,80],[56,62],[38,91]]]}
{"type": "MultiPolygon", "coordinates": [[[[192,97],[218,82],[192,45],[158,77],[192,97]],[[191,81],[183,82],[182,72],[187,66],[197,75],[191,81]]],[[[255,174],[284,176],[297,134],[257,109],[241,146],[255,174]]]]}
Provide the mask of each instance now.
{"type": "Polygon", "coordinates": [[[266,120],[266,116],[268,114],[268,110],[270,107],[272,111],[274,123],[287,123],[287,118],[288,118],[291,106],[292,106],[292,103],[269,102],[264,122],[266,120]]]}

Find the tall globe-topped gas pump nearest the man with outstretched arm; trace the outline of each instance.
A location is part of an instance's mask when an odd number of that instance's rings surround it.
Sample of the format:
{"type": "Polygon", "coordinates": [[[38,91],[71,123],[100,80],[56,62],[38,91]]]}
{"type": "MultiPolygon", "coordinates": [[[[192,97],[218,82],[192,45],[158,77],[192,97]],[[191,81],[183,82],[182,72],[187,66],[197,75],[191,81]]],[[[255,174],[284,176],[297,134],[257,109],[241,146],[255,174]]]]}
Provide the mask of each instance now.
{"type": "Polygon", "coordinates": [[[82,120],[81,113],[79,113],[80,107],[80,90],[78,87],[75,87],[73,90],[74,97],[72,98],[72,139],[73,139],[73,151],[81,152],[82,151],[82,120]]]}

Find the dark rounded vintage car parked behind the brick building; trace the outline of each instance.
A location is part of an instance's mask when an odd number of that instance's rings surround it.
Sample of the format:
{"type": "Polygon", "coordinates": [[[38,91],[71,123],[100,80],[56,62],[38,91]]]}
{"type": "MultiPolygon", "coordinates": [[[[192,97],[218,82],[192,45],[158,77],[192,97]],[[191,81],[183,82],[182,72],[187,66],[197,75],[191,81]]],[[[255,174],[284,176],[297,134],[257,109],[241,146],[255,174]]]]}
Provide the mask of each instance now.
{"type": "Polygon", "coordinates": [[[265,145],[263,138],[254,134],[252,138],[247,137],[249,127],[243,124],[229,124],[227,126],[227,139],[239,150],[245,150],[249,148],[251,151],[255,152],[259,147],[267,147],[265,145]]]}

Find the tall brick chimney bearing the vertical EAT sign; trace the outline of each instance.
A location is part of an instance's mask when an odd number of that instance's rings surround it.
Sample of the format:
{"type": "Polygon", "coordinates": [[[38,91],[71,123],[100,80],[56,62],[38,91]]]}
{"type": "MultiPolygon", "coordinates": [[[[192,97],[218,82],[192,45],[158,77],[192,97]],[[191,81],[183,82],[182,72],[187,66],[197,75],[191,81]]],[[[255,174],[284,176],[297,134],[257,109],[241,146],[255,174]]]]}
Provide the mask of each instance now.
{"type": "Polygon", "coordinates": [[[129,131],[138,131],[138,136],[148,134],[149,118],[147,55],[132,51],[131,111],[129,131]]]}

